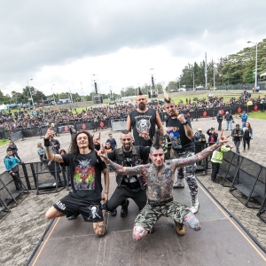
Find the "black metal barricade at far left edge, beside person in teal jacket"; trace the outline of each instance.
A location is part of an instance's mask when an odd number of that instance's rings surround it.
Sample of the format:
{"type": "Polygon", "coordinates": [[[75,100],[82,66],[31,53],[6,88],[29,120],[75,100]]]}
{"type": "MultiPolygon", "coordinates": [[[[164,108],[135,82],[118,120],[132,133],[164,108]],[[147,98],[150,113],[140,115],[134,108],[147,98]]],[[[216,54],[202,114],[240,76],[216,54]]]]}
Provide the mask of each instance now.
{"type": "MultiPolygon", "coordinates": [[[[19,166],[20,168],[21,166],[19,166]]],[[[17,200],[22,193],[27,193],[27,187],[20,178],[20,185],[24,188],[24,192],[17,192],[14,184],[14,180],[12,176],[4,171],[4,173],[0,174],[0,198],[4,202],[5,206],[9,206],[12,202],[15,203],[16,206],[19,205],[19,201],[17,200]]]]}

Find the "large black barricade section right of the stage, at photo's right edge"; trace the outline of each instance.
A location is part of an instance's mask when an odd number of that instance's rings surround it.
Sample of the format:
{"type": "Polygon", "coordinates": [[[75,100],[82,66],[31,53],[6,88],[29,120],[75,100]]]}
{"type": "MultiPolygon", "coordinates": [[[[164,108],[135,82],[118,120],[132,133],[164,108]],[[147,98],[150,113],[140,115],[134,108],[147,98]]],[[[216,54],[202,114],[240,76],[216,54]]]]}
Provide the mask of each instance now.
{"type": "Polygon", "coordinates": [[[239,165],[235,171],[230,192],[246,207],[260,208],[266,194],[265,176],[265,167],[239,155],[239,165]]]}

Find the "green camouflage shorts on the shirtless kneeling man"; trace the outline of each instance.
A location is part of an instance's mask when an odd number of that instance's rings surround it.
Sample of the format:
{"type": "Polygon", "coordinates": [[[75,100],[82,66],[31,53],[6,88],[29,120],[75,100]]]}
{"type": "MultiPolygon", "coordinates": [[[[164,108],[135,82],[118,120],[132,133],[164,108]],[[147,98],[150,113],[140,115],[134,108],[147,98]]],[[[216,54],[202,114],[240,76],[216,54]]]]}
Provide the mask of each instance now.
{"type": "Polygon", "coordinates": [[[189,207],[180,205],[175,200],[158,207],[151,207],[147,204],[137,215],[134,226],[141,226],[146,231],[150,231],[162,215],[170,217],[178,223],[183,223],[184,216],[190,212],[189,207]]]}

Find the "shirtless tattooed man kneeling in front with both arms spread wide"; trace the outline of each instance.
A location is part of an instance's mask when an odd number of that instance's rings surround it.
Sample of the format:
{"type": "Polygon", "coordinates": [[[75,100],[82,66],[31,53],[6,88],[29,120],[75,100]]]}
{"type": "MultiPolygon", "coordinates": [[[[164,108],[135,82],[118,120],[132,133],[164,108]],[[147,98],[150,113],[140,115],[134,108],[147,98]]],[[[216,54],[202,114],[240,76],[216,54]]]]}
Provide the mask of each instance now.
{"type": "Polygon", "coordinates": [[[140,240],[152,230],[153,225],[161,215],[171,217],[176,223],[176,233],[184,235],[184,225],[194,231],[200,231],[200,222],[192,214],[189,207],[180,205],[173,200],[173,183],[176,168],[192,165],[195,162],[207,157],[223,143],[228,142],[221,133],[221,143],[209,146],[207,149],[193,156],[181,159],[166,160],[164,162],[164,152],[160,145],[153,145],[150,150],[152,163],[138,165],[136,167],[122,167],[108,159],[104,146],[98,151],[98,156],[102,158],[116,173],[121,175],[143,175],[147,181],[147,205],[140,211],[135,220],[133,229],[133,239],[140,240]]]}

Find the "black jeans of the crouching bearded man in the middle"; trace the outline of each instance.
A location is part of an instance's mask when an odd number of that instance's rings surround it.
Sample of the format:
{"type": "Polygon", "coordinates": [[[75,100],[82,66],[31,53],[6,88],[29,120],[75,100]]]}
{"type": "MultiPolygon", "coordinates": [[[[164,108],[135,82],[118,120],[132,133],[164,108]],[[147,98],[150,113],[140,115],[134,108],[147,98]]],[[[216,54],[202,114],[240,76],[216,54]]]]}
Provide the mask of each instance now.
{"type": "Polygon", "coordinates": [[[108,211],[113,211],[116,207],[121,206],[121,203],[127,199],[134,200],[139,210],[141,210],[147,202],[146,191],[141,188],[132,190],[127,186],[117,186],[110,200],[106,202],[108,211]]]}

